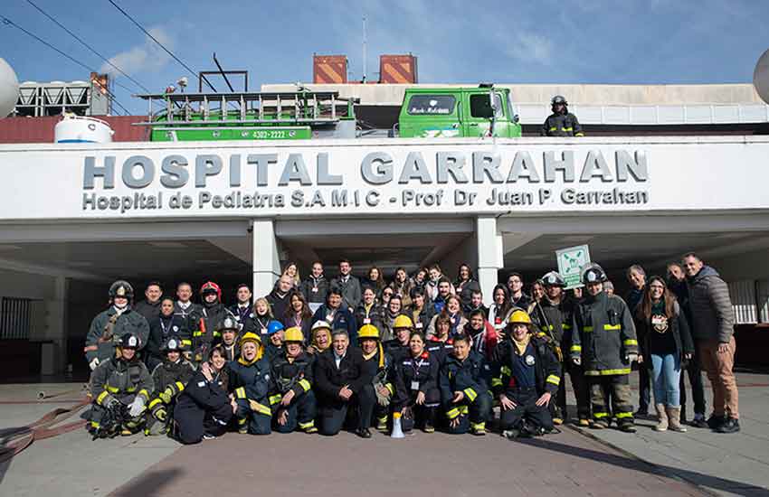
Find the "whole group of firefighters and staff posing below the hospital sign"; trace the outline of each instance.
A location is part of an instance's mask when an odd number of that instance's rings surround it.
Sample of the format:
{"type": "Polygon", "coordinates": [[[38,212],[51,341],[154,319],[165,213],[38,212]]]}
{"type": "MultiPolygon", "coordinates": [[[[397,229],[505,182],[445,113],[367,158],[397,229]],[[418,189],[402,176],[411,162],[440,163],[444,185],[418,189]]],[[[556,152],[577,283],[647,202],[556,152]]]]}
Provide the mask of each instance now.
{"type": "Polygon", "coordinates": [[[551,271],[527,295],[512,273],[488,307],[466,264],[453,282],[438,265],[413,277],[398,268],[390,284],[377,267],[358,279],[347,260],[330,281],[321,263],[311,271],[302,280],[289,264],[253,302],[251,289],[238,286],[230,307],[214,282],[201,286],[201,304],[189,284],[174,299],[153,282],[137,305],[133,287],[115,282],[84,351],[92,435],[144,431],[193,444],[230,429],[336,435],[349,427],[368,438],[372,427],[397,426],[482,436],[498,406],[500,433],[537,436],[567,419],[565,373],[581,426],[635,431],[651,378],[655,428],[684,431],[679,379],[687,363],[695,426],[739,429],[728,291],[694,254],[648,282],[631,267],[626,299],[613,295],[596,264],[583,269],[584,294],[567,293],[551,271]],[[635,415],[633,363],[641,371],[635,415]],[[707,421],[692,364],[713,384],[707,421]]]}

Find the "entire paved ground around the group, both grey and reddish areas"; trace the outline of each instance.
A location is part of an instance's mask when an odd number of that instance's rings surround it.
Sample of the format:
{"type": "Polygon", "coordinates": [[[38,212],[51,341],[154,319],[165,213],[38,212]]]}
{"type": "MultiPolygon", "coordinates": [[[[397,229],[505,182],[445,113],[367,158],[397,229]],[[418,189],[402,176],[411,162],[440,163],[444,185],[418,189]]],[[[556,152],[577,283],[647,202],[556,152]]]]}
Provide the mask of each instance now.
{"type": "MultiPolygon", "coordinates": [[[[152,495],[265,492],[366,497],[440,491],[470,495],[728,495],[769,496],[769,376],[738,375],[743,431],[725,436],[690,428],[688,434],[573,428],[526,443],[418,433],[405,440],[375,434],[361,440],[303,434],[267,437],[229,434],[180,447],[164,437],[133,436],[91,442],[84,431],[35,442],[0,466],[0,496],[152,495]],[[594,438],[593,438],[594,437],[594,438]],[[605,443],[612,444],[612,448],[605,443]],[[644,462],[646,461],[646,462],[644,462]],[[196,474],[213,474],[200,478],[196,474]],[[231,475],[238,475],[233,478],[231,475]],[[704,488],[691,484],[698,483],[704,488]],[[111,493],[110,493],[111,492],[111,493]]],[[[40,417],[80,385],[0,386],[4,429],[40,417]],[[73,390],[50,402],[49,395],[73,390]],[[8,401],[26,401],[18,404],[8,401]]]]}

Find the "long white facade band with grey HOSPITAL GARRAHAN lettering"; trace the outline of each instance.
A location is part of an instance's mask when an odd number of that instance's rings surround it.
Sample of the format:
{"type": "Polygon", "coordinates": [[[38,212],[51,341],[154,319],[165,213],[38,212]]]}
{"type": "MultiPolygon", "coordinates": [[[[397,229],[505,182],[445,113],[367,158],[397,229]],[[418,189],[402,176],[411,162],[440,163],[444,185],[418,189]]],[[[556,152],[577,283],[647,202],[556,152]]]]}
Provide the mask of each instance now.
{"type": "Polygon", "coordinates": [[[308,140],[0,146],[3,219],[651,211],[761,205],[753,146],[691,139],[308,140]],[[699,143],[699,142],[702,143],[699,143]],[[717,177],[717,198],[687,191],[717,177]],[[10,180],[10,181],[7,181],[10,180]],[[44,180],[44,181],[41,181],[44,180]],[[699,178],[700,183],[702,178],[699,178]],[[737,185],[739,183],[739,185],[737,185]],[[758,192],[756,192],[758,193],[758,192]],[[715,205],[720,204],[720,206],[715,205]],[[704,207],[708,207],[706,203],[704,207]]]}

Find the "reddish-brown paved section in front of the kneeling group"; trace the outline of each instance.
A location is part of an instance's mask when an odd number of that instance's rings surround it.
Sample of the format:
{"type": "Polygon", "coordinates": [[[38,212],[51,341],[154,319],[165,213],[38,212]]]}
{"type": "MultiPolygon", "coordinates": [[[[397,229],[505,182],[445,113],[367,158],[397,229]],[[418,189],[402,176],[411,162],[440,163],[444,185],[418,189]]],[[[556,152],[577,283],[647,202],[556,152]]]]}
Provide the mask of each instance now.
{"type": "Polygon", "coordinates": [[[183,447],[110,495],[703,495],[572,430],[526,444],[496,435],[228,434],[183,447]],[[216,467],[216,477],[195,475],[216,467]],[[235,477],[228,477],[229,472],[235,477]]]}

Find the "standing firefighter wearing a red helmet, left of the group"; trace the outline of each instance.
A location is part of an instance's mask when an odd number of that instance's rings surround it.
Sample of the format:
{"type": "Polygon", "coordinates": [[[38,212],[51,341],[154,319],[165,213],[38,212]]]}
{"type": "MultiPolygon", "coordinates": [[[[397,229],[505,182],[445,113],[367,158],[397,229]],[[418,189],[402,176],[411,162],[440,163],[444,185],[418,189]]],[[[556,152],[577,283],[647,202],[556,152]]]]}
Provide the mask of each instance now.
{"type": "Polygon", "coordinates": [[[233,315],[222,304],[222,289],[213,281],[207,281],[200,287],[200,297],[203,305],[189,315],[187,324],[192,334],[192,359],[195,364],[204,361],[211,348],[222,341],[216,324],[222,322],[225,316],[233,315]]]}

